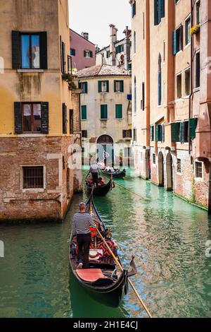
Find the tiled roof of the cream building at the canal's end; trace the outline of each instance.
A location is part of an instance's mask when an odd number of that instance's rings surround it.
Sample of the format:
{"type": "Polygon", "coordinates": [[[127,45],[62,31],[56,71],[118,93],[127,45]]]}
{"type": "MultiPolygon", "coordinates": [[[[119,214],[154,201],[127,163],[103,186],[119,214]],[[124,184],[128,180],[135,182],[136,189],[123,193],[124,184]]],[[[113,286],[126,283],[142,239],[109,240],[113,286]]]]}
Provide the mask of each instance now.
{"type": "Polygon", "coordinates": [[[119,66],[99,64],[77,72],[77,78],[93,78],[98,76],[130,76],[129,71],[119,66]]]}

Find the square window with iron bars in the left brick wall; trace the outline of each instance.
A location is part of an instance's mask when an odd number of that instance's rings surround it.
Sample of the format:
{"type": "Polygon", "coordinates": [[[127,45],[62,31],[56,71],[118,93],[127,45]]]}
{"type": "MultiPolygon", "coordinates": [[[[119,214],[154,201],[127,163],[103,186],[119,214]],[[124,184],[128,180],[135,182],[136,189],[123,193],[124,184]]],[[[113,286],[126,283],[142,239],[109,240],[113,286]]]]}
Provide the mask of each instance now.
{"type": "Polygon", "coordinates": [[[23,189],[44,188],[44,167],[23,167],[23,189]]]}

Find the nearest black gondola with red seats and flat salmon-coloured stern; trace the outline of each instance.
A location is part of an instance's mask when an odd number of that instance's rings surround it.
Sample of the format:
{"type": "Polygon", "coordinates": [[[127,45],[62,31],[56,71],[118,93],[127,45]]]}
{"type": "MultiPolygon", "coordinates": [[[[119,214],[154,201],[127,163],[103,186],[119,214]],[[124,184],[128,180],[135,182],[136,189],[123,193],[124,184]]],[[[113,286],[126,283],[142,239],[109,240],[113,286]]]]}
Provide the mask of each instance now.
{"type": "MultiPolygon", "coordinates": [[[[110,230],[105,227],[98,215],[92,194],[87,202],[87,212],[93,216],[97,229],[106,239],[106,243],[120,262],[120,257],[117,254],[117,244],[112,239],[110,230]]],[[[79,284],[89,292],[91,297],[108,307],[118,307],[124,295],[127,294],[128,277],[136,274],[134,258],[130,263],[131,271],[120,271],[97,229],[91,228],[89,269],[77,269],[77,242],[75,238],[70,238],[70,266],[79,284]]]]}

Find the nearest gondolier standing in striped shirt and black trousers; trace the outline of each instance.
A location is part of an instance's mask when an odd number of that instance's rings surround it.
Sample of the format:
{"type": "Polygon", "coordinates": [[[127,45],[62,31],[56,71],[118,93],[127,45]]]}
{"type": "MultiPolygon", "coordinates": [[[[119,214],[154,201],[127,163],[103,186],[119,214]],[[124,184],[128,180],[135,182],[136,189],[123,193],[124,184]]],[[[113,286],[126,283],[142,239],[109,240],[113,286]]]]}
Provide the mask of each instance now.
{"type": "Polygon", "coordinates": [[[89,268],[90,227],[96,228],[93,218],[86,212],[86,204],[79,203],[79,212],[73,217],[72,237],[77,237],[77,268],[89,268]]]}

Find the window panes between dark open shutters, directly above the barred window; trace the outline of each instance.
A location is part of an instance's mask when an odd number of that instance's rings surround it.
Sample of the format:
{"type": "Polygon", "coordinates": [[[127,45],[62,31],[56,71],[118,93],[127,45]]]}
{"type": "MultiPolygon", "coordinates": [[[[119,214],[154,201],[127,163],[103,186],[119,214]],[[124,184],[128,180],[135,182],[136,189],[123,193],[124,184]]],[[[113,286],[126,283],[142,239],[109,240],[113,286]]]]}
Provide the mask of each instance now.
{"type": "Polygon", "coordinates": [[[41,104],[23,104],[23,132],[41,132],[41,104]]]}

